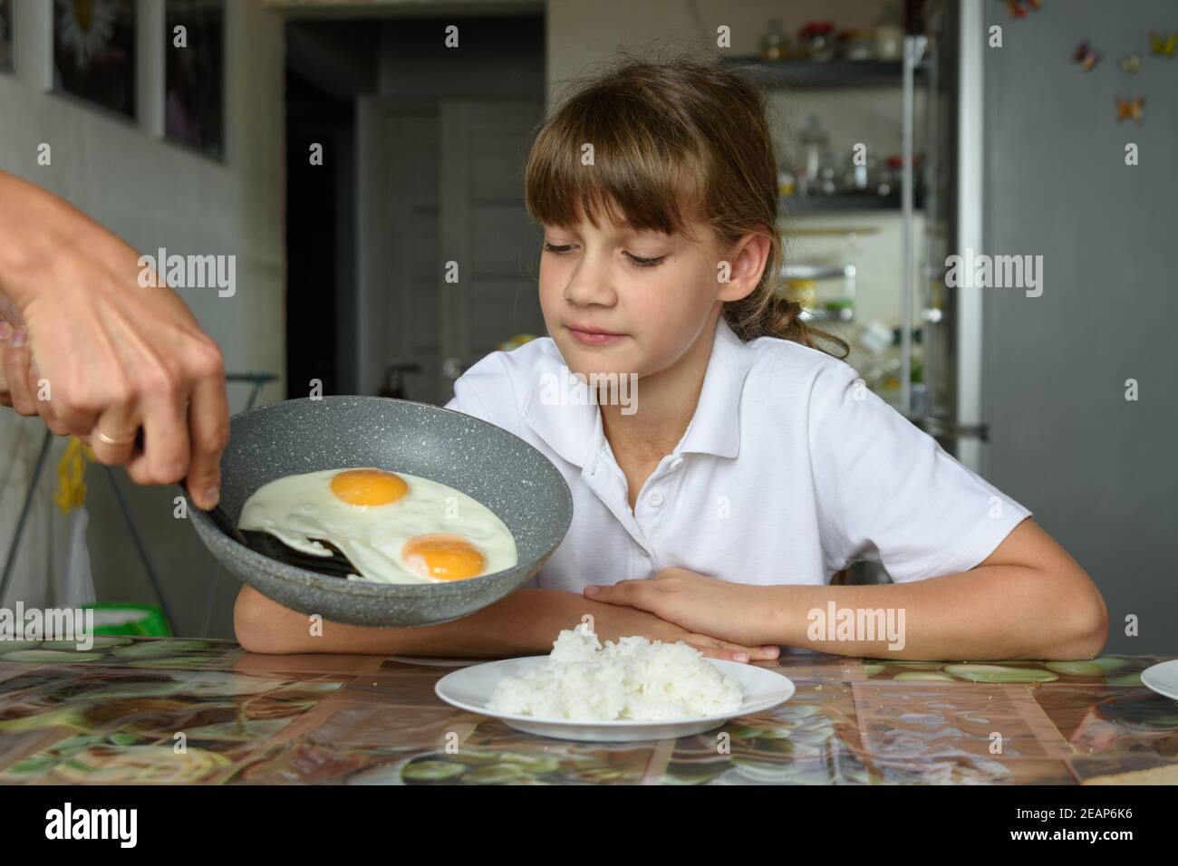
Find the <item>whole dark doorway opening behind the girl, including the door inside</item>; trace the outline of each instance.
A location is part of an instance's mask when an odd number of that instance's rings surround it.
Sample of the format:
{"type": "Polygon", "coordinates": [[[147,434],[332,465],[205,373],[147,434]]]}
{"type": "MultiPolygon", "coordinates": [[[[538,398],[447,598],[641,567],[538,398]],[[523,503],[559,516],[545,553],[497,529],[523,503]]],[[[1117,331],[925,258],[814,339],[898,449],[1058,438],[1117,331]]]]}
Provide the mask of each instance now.
{"type": "Polygon", "coordinates": [[[287,396],[378,394],[401,366],[398,396],[445,403],[544,333],[523,206],[543,15],[305,18],[286,45],[287,396]]]}

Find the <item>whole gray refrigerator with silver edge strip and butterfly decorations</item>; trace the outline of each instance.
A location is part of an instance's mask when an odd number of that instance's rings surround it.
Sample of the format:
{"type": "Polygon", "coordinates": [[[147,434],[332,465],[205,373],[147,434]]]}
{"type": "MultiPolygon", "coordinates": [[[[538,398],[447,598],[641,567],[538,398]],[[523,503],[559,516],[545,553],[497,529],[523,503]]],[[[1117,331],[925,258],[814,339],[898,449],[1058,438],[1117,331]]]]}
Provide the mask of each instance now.
{"type": "Polygon", "coordinates": [[[1107,653],[1163,653],[1178,628],[1178,58],[1150,34],[1178,29],[1178,6],[1023,6],[928,4],[927,37],[909,38],[928,40],[913,137],[931,194],[929,253],[905,277],[927,372],[906,410],[1087,570],[1107,653]],[[946,286],[948,256],[971,250],[1037,263],[1038,286],[946,286]]]}

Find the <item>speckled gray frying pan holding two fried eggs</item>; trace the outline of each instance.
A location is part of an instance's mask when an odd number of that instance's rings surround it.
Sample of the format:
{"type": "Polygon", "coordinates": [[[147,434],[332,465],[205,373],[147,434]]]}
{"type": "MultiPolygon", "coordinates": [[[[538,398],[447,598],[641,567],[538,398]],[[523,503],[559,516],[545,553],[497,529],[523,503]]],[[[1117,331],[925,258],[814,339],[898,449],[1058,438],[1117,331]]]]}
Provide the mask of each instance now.
{"type": "Polygon", "coordinates": [[[274,601],[332,622],[431,626],[491,604],[535,575],[563,541],[573,496],[560,471],[517,436],[469,415],[382,397],[292,399],[232,418],[220,504],[234,521],[263,484],[286,475],[379,467],[449,484],[515,535],[518,563],[452,583],[342,580],[286,566],[221,533],[188,503],[201,541],[226,569],[274,601]]]}

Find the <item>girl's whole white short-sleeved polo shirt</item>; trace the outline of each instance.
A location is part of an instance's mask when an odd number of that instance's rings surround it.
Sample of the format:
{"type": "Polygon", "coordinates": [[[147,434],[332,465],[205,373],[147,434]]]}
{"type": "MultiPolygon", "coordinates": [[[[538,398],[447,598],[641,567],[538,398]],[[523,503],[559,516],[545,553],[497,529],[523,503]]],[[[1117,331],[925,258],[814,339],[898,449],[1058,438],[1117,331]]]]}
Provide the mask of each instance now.
{"type": "MultiPolygon", "coordinates": [[[[588,386],[574,379],[552,399],[562,368],[548,337],[491,352],[446,404],[535,445],[573,490],[569,533],[528,586],[580,593],[671,566],[821,584],[860,560],[916,581],[973,568],[1031,514],[845,362],[772,337],[743,343],[722,316],[695,415],[631,511],[588,386]]],[[[636,395],[641,412],[641,381],[636,395]]]]}

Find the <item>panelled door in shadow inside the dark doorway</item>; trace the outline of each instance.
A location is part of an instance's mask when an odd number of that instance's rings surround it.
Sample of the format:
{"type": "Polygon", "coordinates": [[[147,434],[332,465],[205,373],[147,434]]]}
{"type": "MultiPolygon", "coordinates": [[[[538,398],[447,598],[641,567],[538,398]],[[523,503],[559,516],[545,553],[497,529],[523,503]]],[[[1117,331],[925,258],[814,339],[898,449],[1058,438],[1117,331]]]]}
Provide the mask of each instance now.
{"type": "Polygon", "coordinates": [[[543,336],[541,233],[523,206],[541,111],[523,100],[362,100],[364,392],[399,358],[422,366],[405,377],[410,399],[445,403],[454,379],[498,343],[543,336]]]}

